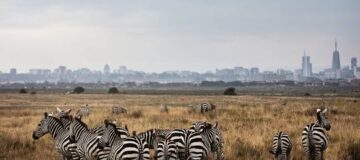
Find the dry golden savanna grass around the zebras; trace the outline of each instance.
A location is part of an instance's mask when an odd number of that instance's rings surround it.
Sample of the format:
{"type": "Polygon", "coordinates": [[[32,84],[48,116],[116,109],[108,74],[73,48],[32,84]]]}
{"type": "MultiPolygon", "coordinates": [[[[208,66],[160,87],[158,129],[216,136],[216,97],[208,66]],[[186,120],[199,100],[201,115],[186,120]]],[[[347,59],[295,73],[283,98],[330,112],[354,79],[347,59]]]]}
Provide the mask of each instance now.
{"type": "Polygon", "coordinates": [[[302,129],[315,122],[317,107],[326,106],[331,130],[325,158],[346,159],[346,154],[360,151],[360,98],[0,94],[0,159],[56,159],[52,137],[47,135],[34,141],[32,132],[44,112],[60,106],[73,109],[74,114],[84,104],[91,108],[90,116],[83,119],[90,127],[112,119],[126,124],[130,132],[142,132],[151,128],[189,128],[198,120],[217,121],[229,160],[273,159],[269,149],[272,135],[278,131],[290,135],[294,145],[292,159],[304,159],[302,129]],[[186,106],[201,102],[217,105],[216,112],[188,113],[186,106]],[[170,112],[160,113],[160,104],[171,106],[170,112]],[[112,115],[112,106],[123,106],[128,114],[112,115]]]}

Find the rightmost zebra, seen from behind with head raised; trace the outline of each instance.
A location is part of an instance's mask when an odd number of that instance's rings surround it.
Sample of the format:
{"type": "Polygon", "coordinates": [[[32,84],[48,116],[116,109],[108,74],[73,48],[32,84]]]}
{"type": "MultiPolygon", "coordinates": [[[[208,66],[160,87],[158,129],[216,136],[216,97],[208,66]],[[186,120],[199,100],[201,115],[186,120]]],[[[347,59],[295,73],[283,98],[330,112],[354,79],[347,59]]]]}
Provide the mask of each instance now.
{"type": "Polygon", "coordinates": [[[307,125],[302,132],[302,145],[306,153],[307,159],[323,159],[323,152],[328,147],[328,137],[325,130],[330,130],[330,122],[325,117],[327,109],[316,110],[316,123],[307,125]]]}

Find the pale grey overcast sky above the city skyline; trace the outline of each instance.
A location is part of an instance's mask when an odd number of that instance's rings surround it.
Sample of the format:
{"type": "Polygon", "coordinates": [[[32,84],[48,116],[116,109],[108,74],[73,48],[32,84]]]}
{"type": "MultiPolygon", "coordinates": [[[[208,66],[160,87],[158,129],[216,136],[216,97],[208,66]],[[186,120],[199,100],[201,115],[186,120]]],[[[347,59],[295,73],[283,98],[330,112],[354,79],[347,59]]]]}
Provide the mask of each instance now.
{"type": "Polygon", "coordinates": [[[360,61],[359,0],[0,0],[0,70],[144,71],[360,61]],[[100,3],[102,2],[102,3],[100,3]]]}

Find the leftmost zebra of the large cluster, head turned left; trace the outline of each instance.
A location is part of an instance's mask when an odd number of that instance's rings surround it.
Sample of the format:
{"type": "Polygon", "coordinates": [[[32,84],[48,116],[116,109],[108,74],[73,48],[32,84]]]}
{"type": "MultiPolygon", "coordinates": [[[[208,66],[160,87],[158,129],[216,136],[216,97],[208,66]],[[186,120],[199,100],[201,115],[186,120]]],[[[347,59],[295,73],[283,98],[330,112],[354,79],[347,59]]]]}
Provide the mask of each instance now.
{"type": "Polygon", "coordinates": [[[61,159],[79,158],[76,153],[76,144],[70,139],[70,132],[64,128],[64,125],[59,119],[49,116],[49,114],[45,112],[44,118],[33,132],[32,137],[37,140],[47,133],[51,134],[54,138],[55,148],[59,156],[61,156],[61,159]]]}

